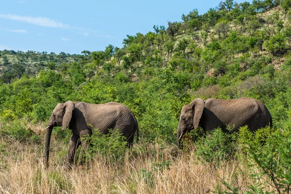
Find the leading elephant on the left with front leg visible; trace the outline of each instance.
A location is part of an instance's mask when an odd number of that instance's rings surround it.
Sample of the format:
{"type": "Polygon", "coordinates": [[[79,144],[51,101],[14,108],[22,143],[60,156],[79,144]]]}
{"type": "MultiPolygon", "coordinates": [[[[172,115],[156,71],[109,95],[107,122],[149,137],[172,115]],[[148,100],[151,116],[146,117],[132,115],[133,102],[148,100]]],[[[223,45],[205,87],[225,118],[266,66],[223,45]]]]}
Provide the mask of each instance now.
{"type": "Polygon", "coordinates": [[[88,142],[80,140],[81,137],[92,135],[92,129],[99,129],[107,134],[108,129],[118,129],[128,142],[128,147],[132,144],[134,133],[137,132],[136,142],[138,142],[139,129],[133,113],[126,106],[117,102],[106,104],[89,104],[85,102],[59,103],[53,110],[46,131],[46,163],[49,165],[49,143],[53,127],[62,126],[72,130],[69,141],[66,162],[73,162],[77,148],[82,144],[83,148],[88,147],[88,142]]]}

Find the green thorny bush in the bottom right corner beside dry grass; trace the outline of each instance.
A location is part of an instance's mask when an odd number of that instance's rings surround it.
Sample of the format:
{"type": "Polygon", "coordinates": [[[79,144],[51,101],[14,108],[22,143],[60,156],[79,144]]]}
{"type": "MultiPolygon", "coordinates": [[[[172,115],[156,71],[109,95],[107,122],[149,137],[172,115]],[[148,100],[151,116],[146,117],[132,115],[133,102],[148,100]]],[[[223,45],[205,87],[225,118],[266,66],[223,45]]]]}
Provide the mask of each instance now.
{"type": "Polygon", "coordinates": [[[268,176],[278,193],[289,193],[291,186],[289,127],[281,131],[276,130],[274,133],[271,133],[270,129],[262,129],[255,134],[248,134],[249,138],[244,141],[253,162],[251,166],[259,166],[259,172],[253,171],[252,176],[254,178],[268,176]]]}

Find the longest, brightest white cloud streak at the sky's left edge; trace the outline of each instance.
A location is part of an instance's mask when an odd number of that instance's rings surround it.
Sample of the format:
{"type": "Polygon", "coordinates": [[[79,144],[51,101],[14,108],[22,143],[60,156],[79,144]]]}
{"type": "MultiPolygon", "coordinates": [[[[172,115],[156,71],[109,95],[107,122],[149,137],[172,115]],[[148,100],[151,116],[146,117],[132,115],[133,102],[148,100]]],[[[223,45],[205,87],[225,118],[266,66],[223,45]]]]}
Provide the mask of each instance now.
{"type": "Polygon", "coordinates": [[[45,26],[51,28],[70,28],[69,25],[57,22],[46,17],[31,17],[31,16],[17,16],[13,14],[0,14],[0,18],[11,19],[20,22],[26,22],[38,26],[45,26]]]}

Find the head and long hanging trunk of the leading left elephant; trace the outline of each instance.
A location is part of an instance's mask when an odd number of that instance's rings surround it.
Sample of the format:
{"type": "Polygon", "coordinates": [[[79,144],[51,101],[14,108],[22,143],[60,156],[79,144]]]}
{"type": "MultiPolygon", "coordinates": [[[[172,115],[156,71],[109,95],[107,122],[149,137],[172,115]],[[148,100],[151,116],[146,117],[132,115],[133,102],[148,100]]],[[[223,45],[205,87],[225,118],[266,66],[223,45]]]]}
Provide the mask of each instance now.
{"type": "Polygon", "coordinates": [[[72,118],[72,113],[75,108],[75,104],[72,101],[67,101],[65,103],[59,103],[54,108],[49,122],[46,128],[46,164],[49,165],[49,143],[50,143],[50,136],[52,132],[52,128],[55,126],[62,126],[62,129],[68,127],[70,120],[72,118]]]}

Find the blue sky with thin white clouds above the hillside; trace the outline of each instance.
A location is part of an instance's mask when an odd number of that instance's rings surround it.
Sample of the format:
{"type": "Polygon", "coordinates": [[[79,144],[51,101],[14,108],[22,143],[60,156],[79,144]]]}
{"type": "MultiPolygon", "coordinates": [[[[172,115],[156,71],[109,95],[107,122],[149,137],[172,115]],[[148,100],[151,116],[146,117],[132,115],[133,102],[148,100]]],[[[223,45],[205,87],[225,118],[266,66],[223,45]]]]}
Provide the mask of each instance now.
{"type": "Polygon", "coordinates": [[[109,44],[121,48],[127,34],[167,27],[168,21],[181,21],[182,14],[195,8],[203,14],[221,0],[1,1],[0,50],[81,54],[109,44]]]}

